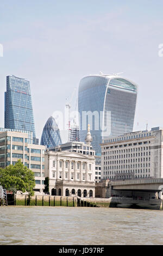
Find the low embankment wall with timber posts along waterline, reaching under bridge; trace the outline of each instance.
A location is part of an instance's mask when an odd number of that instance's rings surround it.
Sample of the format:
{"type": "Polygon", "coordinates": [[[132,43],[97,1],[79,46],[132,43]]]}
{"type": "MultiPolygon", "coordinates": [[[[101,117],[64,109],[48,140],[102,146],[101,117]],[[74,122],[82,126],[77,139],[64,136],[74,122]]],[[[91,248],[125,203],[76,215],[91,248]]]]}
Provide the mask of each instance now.
{"type": "Polygon", "coordinates": [[[24,206],[68,206],[68,207],[100,207],[100,208],[133,208],[133,209],[150,209],[162,210],[161,199],[135,199],[127,197],[110,197],[110,198],[80,198],[35,195],[29,197],[25,194],[14,194],[8,197],[9,205],[24,206]]]}

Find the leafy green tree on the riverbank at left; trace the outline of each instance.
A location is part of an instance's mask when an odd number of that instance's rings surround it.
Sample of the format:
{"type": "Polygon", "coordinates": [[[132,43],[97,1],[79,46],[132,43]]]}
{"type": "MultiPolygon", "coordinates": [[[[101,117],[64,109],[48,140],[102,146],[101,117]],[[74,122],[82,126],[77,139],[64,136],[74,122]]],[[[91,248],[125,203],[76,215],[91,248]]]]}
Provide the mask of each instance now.
{"type": "Polygon", "coordinates": [[[0,184],[7,190],[28,192],[30,196],[34,195],[35,177],[32,170],[24,166],[19,159],[15,166],[11,165],[0,168],[0,184]]]}

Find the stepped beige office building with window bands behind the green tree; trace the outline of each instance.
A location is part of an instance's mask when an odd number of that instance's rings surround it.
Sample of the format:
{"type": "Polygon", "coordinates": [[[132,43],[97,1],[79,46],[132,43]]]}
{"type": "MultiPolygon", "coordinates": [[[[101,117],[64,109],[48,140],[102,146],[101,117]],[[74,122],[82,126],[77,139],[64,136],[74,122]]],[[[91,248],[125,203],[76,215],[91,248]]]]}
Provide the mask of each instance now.
{"type": "Polygon", "coordinates": [[[21,159],[35,175],[35,192],[43,192],[45,188],[45,146],[29,144],[29,132],[0,132],[0,167],[15,165],[21,159]]]}

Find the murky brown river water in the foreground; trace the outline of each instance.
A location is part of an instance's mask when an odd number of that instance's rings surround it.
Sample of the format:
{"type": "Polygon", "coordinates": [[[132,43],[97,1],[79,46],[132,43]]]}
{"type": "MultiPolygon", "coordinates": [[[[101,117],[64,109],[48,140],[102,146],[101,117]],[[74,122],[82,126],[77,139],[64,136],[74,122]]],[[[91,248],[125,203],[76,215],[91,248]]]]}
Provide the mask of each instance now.
{"type": "Polygon", "coordinates": [[[0,245],[163,245],[163,211],[1,206],[0,245]]]}

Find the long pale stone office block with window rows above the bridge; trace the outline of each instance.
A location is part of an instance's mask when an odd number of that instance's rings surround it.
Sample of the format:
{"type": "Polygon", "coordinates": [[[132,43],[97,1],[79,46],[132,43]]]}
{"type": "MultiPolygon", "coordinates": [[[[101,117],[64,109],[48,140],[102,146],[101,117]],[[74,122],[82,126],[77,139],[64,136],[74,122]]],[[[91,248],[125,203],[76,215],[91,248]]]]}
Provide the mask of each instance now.
{"type": "Polygon", "coordinates": [[[163,128],[104,139],[102,179],[163,178],[163,128]]]}

